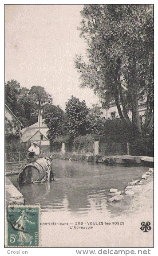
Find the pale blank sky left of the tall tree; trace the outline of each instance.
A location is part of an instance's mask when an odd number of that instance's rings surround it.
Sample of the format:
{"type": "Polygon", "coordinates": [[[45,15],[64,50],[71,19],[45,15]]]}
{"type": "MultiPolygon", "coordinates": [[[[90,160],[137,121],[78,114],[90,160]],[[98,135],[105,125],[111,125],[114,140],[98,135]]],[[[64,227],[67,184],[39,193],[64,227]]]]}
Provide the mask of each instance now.
{"type": "Polygon", "coordinates": [[[82,4],[5,5],[5,82],[44,87],[53,104],[65,108],[71,95],[87,107],[99,102],[94,92],[79,88],[75,54],[85,55],[79,37],[82,4]]]}

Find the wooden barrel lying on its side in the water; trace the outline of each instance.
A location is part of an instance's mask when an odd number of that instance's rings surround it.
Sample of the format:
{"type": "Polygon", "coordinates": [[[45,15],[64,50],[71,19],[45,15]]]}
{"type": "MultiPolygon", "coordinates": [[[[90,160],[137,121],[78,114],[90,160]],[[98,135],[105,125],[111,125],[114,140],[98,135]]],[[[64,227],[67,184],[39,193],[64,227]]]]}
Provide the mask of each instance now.
{"type": "Polygon", "coordinates": [[[50,162],[45,158],[39,158],[35,162],[26,165],[22,171],[25,181],[41,181],[46,175],[50,162]]]}

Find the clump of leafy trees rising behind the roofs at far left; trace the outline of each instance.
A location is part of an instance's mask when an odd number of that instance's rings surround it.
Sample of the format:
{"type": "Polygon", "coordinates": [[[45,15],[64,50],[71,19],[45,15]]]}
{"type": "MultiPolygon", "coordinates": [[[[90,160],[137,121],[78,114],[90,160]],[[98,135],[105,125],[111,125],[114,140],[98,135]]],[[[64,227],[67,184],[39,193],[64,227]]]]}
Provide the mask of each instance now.
{"type": "Polygon", "coordinates": [[[5,84],[5,102],[21,123],[28,127],[37,122],[37,116],[47,104],[52,103],[51,95],[43,87],[32,86],[29,90],[11,80],[5,84]]]}

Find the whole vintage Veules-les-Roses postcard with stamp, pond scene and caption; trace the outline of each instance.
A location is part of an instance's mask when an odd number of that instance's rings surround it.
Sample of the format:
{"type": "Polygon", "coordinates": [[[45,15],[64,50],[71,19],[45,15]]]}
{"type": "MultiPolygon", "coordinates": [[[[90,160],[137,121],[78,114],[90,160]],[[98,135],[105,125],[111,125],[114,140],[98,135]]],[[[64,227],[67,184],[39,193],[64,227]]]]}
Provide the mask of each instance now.
{"type": "Polygon", "coordinates": [[[153,4],[4,9],[5,247],[150,254],[153,4]]]}

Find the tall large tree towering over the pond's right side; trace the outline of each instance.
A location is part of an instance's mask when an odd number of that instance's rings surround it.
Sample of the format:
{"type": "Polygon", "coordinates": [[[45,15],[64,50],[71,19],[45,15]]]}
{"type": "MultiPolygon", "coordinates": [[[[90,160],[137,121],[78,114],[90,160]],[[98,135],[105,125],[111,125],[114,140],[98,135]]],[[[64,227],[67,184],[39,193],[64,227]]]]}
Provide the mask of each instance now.
{"type": "Polygon", "coordinates": [[[129,126],[130,110],[141,135],[138,102],[145,96],[146,127],[153,120],[153,6],[86,4],[81,15],[87,58],[76,55],[80,85],[92,88],[103,107],[115,101],[120,119],[129,126]]]}

